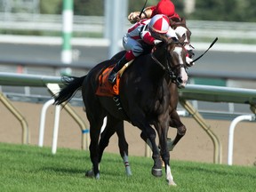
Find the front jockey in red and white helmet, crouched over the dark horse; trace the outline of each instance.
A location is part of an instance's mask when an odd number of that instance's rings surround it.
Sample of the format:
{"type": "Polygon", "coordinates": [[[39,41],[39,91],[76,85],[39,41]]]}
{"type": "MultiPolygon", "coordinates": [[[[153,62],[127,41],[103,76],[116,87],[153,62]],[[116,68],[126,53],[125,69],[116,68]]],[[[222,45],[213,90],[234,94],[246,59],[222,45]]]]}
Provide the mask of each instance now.
{"type": "Polygon", "coordinates": [[[128,32],[123,36],[123,46],[126,52],[110,72],[108,81],[114,84],[117,72],[123,68],[124,64],[135,59],[144,51],[145,46],[143,47],[141,40],[148,45],[160,43],[161,41],[154,37],[158,34],[178,39],[175,31],[170,27],[168,17],[164,14],[156,14],[152,19],[140,20],[129,28],[128,32]]]}

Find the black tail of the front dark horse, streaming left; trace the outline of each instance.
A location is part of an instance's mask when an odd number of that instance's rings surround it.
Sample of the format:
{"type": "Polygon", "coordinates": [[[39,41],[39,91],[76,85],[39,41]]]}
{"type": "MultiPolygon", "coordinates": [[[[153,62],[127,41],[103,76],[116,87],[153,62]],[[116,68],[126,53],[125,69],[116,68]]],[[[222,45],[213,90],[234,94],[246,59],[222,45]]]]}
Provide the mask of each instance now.
{"type": "Polygon", "coordinates": [[[75,93],[82,87],[85,77],[63,76],[61,80],[66,86],[56,95],[54,105],[60,105],[63,102],[71,100],[75,93]]]}

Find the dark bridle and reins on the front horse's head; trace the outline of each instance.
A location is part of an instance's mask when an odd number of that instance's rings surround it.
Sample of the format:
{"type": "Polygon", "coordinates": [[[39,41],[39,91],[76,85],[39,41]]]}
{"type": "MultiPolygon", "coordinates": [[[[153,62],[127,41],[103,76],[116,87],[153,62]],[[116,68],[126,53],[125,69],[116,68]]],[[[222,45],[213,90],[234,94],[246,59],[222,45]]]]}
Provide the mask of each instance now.
{"type": "MultiPolygon", "coordinates": [[[[163,63],[161,63],[159,60],[157,60],[156,56],[154,55],[154,49],[151,52],[151,58],[156,62],[156,64],[158,64],[161,68],[163,68],[163,70],[170,76],[172,82],[176,82],[178,76],[175,75],[174,71],[176,71],[179,68],[188,68],[188,66],[186,64],[179,64],[179,65],[175,65],[172,66],[172,61],[171,61],[171,55],[167,50],[167,46],[170,44],[180,44],[182,49],[185,49],[183,47],[183,43],[180,43],[179,41],[175,41],[175,42],[171,42],[171,43],[167,43],[165,44],[164,50],[165,50],[165,54],[167,56],[167,65],[166,67],[164,66],[163,63]]],[[[186,62],[185,62],[186,63],[186,62]]]]}

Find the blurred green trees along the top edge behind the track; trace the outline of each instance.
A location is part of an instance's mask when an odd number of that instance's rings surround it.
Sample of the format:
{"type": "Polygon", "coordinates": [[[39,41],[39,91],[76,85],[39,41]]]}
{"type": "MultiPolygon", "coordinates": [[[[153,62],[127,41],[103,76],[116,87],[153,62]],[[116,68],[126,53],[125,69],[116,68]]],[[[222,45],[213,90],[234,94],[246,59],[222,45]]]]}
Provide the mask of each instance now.
{"type": "MultiPolygon", "coordinates": [[[[158,0],[148,0],[147,5],[157,4],[158,0]]],[[[256,21],[255,0],[196,0],[195,12],[184,12],[184,0],[172,0],[176,12],[187,20],[227,20],[256,21]]],[[[140,11],[145,0],[128,0],[128,12],[140,11]]],[[[40,2],[42,14],[60,14],[62,0],[44,0],[40,2]]],[[[104,15],[104,0],[74,0],[76,15],[104,15]]]]}

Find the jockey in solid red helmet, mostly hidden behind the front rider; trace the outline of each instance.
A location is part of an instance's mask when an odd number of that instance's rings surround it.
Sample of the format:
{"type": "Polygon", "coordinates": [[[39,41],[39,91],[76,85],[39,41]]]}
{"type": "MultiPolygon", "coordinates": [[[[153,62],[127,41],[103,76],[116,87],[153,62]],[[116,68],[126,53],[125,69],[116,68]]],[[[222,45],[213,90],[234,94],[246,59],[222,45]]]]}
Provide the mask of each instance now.
{"type": "MultiPolygon", "coordinates": [[[[146,7],[141,15],[140,12],[131,12],[128,15],[128,20],[131,23],[134,23],[139,20],[154,17],[156,14],[164,14],[171,20],[180,21],[180,16],[177,12],[175,12],[175,5],[172,3],[171,0],[160,0],[159,3],[156,4],[156,6],[146,7]]],[[[186,49],[189,52],[188,57],[186,57],[186,62],[188,66],[192,66],[195,64],[192,60],[192,57],[195,55],[193,52],[194,47],[191,44],[188,44],[188,46],[186,46],[186,49]]]]}

